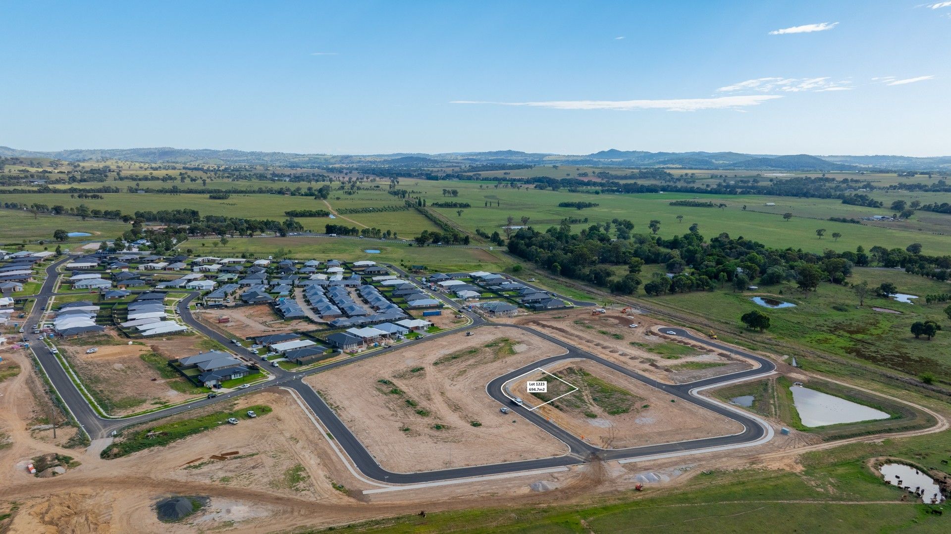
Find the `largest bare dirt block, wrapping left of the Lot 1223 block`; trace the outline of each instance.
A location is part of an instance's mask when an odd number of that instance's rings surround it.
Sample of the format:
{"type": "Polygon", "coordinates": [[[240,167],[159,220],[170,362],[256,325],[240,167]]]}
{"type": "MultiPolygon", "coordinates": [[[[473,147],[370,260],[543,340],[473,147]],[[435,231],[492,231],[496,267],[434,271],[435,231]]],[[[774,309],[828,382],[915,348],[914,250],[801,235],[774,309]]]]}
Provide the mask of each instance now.
{"type": "Polygon", "coordinates": [[[307,383],[391,470],[477,466],[566,452],[543,430],[499,413],[498,403],[485,392],[496,376],[564,351],[512,328],[473,332],[322,372],[307,383]]]}

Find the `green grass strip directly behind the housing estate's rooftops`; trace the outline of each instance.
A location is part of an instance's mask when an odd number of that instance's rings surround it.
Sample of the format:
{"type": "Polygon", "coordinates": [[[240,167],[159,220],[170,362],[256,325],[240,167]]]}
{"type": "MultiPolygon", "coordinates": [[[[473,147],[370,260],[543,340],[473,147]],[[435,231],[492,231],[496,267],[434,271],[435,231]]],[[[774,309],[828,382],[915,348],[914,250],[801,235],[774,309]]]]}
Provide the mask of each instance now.
{"type": "Polygon", "coordinates": [[[357,238],[311,238],[290,236],[287,238],[233,238],[222,245],[218,239],[188,239],[179,247],[192,249],[195,254],[215,256],[240,256],[242,253],[256,257],[274,256],[279,249],[290,251],[290,257],[301,259],[331,259],[374,261],[395,265],[425,265],[431,271],[499,271],[511,263],[478,248],[410,246],[402,241],[380,241],[357,238]],[[202,246],[204,244],[204,246],[202,246]],[[218,245],[218,246],[215,246],[218,245]],[[367,254],[364,250],[378,250],[379,254],[367,254]]]}

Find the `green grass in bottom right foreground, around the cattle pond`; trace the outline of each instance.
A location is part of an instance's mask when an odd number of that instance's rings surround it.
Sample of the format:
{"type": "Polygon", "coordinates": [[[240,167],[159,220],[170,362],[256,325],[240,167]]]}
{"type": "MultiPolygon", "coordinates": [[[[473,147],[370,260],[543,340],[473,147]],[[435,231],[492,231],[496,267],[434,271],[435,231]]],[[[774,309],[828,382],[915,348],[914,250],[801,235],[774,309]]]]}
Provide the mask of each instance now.
{"type": "Polygon", "coordinates": [[[951,518],[937,506],[902,502],[866,460],[901,458],[938,467],[951,433],[856,444],[805,454],[801,472],[712,470],[684,487],[625,491],[596,505],[505,507],[404,516],[335,528],[335,532],[944,532],[951,518]]]}

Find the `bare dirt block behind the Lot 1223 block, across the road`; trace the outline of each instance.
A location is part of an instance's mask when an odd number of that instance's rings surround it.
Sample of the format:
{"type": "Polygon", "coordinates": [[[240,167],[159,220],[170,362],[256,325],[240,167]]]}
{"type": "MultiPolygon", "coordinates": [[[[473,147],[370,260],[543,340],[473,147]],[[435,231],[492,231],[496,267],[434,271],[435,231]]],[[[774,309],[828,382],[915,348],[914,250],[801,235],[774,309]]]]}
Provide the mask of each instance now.
{"type": "Polygon", "coordinates": [[[514,319],[668,384],[683,384],[728,372],[750,369],[747,360],[701,345],[678,345],[658,335],[646,335],[642,317],[609,311],[559,310],[514,319]],[[639,324],[631,328],[631,324],[639,324]]]}

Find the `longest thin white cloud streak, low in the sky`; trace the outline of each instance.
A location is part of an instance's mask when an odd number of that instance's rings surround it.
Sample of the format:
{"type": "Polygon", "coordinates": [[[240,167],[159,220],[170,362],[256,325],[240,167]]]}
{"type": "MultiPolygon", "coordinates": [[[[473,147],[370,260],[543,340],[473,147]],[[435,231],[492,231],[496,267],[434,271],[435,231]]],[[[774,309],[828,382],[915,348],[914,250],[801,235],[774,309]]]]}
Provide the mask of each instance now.
{"type": "Polygon", "coordinates": [[[699,111],[702,109],[731,109],[748,105],[760,105],[780,95],[744,95],[717,98],[686,98],[662,100],[561,100],[548,102],[486,102],[456,100],[450,104],[493,104],[525,105],[530,107],[548,107],[551,109],[612,109],[631,111],[633,109],[666,109],[668,111],[699,111]]]}

